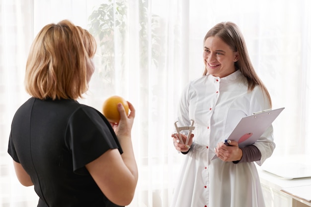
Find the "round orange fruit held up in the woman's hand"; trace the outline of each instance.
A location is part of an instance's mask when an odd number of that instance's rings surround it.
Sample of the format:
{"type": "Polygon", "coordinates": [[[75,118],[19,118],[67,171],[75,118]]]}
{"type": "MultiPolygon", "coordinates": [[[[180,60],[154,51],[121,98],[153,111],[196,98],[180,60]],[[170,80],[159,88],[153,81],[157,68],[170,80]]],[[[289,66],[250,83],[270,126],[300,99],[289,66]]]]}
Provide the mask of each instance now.
{"type": "Polygon", "coordinates": [[[129,113],[129,105],[127,102],[119,96],[112,96],[106,99],[102,106],[102,113],[108,119],[109,122],[119,123],[120,113],[118,111],[118,104],[121,103],[125,109],[125,113],[129,113]]]}

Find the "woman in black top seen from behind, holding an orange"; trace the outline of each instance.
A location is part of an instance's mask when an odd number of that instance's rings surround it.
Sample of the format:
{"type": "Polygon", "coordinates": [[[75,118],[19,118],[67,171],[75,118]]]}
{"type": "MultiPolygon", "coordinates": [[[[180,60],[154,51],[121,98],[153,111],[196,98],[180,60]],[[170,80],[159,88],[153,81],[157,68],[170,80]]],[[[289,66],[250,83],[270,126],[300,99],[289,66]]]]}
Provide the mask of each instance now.
{"type": "Polygon", "coordinates": [[[34,185],[38,207],[115,207],[131,203],[138,180],[130,114],[109,123],[77,99],[94,72],[94,38],[68,20],[48,24],[29,52],[26,91],[9,137],[18,180],[34,185]]]}

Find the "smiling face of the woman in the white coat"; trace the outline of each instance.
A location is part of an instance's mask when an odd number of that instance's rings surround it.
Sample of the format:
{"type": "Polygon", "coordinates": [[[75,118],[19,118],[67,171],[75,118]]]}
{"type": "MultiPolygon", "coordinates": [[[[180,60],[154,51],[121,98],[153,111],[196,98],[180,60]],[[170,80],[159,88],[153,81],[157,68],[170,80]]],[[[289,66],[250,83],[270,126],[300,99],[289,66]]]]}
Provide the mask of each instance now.
{"type": "Polygon", "coordinates": [[[219,37],[212,36],[204,43],[203,59],[209,74],[223,78],[235,71],[234,62],[238,60],[238,52],[234,52],[219,37]]]}

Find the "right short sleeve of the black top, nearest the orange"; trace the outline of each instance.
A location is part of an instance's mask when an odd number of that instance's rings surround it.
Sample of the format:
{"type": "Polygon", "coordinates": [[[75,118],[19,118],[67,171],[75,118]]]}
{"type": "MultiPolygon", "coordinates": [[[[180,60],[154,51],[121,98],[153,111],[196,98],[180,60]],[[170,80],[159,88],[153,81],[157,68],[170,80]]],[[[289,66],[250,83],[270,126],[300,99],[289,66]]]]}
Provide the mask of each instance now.
{"type": "Polygon", "coordinates": [[[85,165],[109,149],[119,149],[118,139],[107,119],[96,109],[82,105],[70,117],[66,146],[72,152],[74,171],[88,173],[85,165]]]}

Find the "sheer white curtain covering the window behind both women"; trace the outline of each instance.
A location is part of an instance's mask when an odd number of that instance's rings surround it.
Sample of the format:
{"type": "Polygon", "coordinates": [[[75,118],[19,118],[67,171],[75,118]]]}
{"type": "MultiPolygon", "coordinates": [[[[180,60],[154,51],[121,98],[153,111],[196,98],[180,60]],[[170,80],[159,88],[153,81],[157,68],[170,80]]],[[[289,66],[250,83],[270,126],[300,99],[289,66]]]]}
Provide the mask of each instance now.
{"type": "Polygon", "coordinates": [[[130,207],[168,207],[184,156],[170,138],[178,98],[202,75],[203,38],[218,22],[240,27],[273,108],[285,107],[273,123],[273,156],[311,157],[310,11],[310,0],[0,0],[0,207],[38,200],[17,181],[7,142],[14,112],[29,97],[28,51],[44,25],[69,19],[96,36],[96,71],[79,102],[101,110],[119,95],[134,104],[139,182],[130,207]]]}

